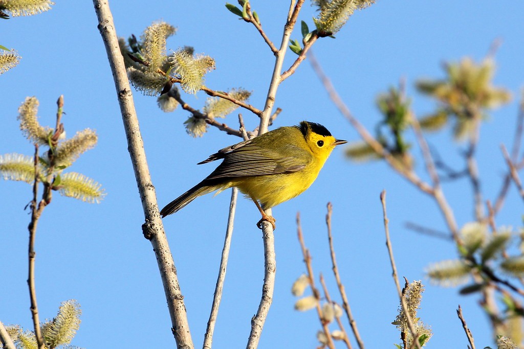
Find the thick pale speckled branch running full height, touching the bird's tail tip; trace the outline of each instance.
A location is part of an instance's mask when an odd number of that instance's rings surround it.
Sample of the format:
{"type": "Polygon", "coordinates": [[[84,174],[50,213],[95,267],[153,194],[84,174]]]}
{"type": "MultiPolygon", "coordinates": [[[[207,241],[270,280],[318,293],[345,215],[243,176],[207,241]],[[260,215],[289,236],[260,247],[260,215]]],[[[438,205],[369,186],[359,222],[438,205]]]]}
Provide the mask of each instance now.
{"type": "Polygon", "coordinates": [[[104,41],[107,58],[113,74],[118,96],[128,151],[135,172],[138,192],[144,210],[145,223],[142,226],[144,235],[151,242],[162,278],[164,292],[171,316],[171,331],[179,348],[194,347],[189,331],[189,323],[182,292],[178,283],[177,268],[169,249],[166,233],[158,211],[155,186],[152,184],[149,167],[141,138],[138,117],[133,102],[133,94],[126,74],[124,59],[118,48],[115,23],[107,1],[93,0],[98,29],[104,41]]]}

